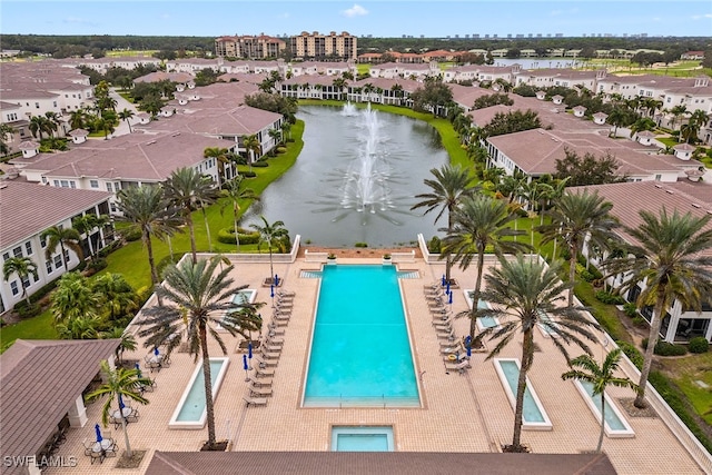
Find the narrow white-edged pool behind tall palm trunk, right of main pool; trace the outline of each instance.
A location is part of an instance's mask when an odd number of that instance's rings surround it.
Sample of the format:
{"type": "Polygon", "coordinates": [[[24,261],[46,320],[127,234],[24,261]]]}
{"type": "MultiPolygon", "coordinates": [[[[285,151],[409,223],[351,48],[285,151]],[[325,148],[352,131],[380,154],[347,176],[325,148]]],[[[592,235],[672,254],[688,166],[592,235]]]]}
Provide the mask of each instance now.
{"type": "MultiPolygon", "coordinates": [[[[512,410],[516,408],[516,385],[520,377],[520,360],[516,358],[494,358],[494,368],[500,376],[500,382],[512,404],[512,410]]],[[[538,399],[534,386],[527,376],[524,390],[524,408],[522,409],[522,428],[528,431],[551,431],[552,422],[538,399]]]]}

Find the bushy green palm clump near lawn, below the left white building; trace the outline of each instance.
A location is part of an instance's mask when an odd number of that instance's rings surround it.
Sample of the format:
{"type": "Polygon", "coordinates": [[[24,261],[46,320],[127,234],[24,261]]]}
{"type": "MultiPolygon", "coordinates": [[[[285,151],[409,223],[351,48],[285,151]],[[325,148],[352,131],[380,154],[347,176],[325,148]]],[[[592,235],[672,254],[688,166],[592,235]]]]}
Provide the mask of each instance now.
{"type": "Polygon", "coordinates": [[[89,279],[79,273],[62,275],[50,297],[50,313],[56,321],[75,318],[96,319],[101,298],[93,290],[89,279]]]}

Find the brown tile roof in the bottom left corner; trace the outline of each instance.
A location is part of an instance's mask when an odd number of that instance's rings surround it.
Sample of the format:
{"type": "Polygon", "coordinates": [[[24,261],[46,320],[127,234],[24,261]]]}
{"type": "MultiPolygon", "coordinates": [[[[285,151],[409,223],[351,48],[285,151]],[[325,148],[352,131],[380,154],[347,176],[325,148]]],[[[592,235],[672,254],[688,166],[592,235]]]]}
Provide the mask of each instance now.
{"type": "Polygon", "coordinates": [[[119,342],[18,339],[0,355],[2,455],[34,455],[42,448],[119,342]]]}

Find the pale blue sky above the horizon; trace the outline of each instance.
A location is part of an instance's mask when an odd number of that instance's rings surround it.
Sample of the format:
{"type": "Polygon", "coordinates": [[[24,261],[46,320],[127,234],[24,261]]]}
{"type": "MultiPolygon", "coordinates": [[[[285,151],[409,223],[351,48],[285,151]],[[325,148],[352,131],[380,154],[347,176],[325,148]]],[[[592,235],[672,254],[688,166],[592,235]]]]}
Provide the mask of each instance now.
{"type": "Polygon", "coordinates": [[[467,34],[712,37],[710,0],[2,0],[0,31],[21,34],[467,34]]]}

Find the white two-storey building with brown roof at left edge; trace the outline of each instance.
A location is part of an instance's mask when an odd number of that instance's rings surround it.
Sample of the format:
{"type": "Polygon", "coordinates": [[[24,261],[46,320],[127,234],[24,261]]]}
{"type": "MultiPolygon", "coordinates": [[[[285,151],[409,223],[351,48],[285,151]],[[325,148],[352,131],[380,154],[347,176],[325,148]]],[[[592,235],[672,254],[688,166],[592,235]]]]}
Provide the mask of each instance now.
{"type": "MultiPolygon", "coordinates": [[[[28,276],[24,287],[32,295],[82,260],[71,249],[60,248],[47,256],[47,239],[41,234],[52,226],[69,228],[72,218],[85,214],[109,214],[110,192],[41,186],[22,179],[0,180],[0,256],[29,257],[37,265],[37,276],[28,276]],[[67,268],[65,268],[65,260],[67,268]]],[[[96,228],[83,235],[85,249],[99,250],[113,238],[111,227],[96,228]],[[87,243],[89,240],[91,244],[87,243]]],[[[89,253],[86,253],[87,256],[89,253]]],[[[87,257],[83,256],[83,257],[87,257]]],[[[17,275],[0,285],[0,314],[22,300],[22,284],[17,275]]]]}

